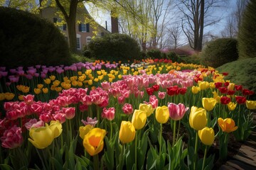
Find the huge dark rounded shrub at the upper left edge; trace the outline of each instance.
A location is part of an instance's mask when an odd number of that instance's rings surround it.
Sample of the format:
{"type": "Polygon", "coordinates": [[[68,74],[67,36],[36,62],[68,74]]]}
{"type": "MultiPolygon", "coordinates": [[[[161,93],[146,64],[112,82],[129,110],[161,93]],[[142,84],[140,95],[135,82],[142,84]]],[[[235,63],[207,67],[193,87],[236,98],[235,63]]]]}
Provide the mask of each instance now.
{"type": "Polygon", "coordinates": [[[14,8],[0,7],[0,65],[70,64],[68,42],[50,21],[14,8]]]}

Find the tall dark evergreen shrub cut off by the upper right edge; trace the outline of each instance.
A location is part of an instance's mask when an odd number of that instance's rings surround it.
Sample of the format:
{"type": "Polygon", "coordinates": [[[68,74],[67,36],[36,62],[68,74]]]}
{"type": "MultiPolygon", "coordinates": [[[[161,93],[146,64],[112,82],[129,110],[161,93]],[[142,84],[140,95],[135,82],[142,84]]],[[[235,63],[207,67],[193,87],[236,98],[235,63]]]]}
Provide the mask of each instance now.
{"type": "Polygon", "coordinates": [[[256,57],[256,1],[250,1],[245,8],[238,33],[239,59],[256,57]]]}

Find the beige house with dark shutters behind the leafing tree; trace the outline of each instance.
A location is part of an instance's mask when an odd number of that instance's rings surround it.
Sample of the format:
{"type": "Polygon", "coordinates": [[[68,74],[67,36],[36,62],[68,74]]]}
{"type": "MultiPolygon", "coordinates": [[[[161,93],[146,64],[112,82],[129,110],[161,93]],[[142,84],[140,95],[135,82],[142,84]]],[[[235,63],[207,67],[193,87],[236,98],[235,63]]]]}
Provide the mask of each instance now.
{"type": "MultiPolygon", "coordinates": [[[[62,22],[61,18],[58,17],[56,11],[56,8],[53,7],[43,8],[41,11],[41,17],[55,23],[68,40],[68,28],[66,24],[62,22]]],[[[79,51],[82,51],[83,47],[90,42],[93,36],[95,36],[95,33],[93,32],[97,32],[96,36],[104,36],[105,34],[110,33],[110,31],[93,20],[86,8],[78,8],[76,18],[77,21],[80,21],[79,23],[77,22],[75,26],[77,50],[79,51]],[[85,22],[85,16],[87,18],[86,21],[89,21],[87,23],[85,22]]]]}

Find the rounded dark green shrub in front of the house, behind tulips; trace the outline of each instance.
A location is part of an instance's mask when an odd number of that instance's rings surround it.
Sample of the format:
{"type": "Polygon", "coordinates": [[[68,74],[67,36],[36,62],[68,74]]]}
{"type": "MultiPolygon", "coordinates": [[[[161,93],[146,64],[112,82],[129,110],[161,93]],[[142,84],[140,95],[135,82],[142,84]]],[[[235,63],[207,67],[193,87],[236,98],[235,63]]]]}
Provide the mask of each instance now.
{"type": "Polygon", "coordinates": [[[138,42],[129,35],[119,33],[92,39],[88,49],[96,60],[109,60],[111,62],[139,59],[140,55],[138,42]]]}

